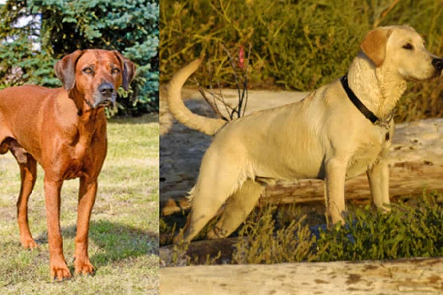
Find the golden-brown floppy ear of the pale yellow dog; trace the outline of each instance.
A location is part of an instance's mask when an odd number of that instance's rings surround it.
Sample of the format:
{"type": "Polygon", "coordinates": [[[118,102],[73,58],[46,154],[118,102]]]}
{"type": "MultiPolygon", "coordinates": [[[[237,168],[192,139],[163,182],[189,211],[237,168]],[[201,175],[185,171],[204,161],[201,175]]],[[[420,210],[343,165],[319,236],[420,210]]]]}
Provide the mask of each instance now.
{"type": "Polygon", "coordinates": [[[373,29],[366,35],[361,43],[361,50],[371,59],[376,67],[379,67],[384,62],[386,57],[386,43],[391,32],[391,30],[384,28],[373,29]]]}

